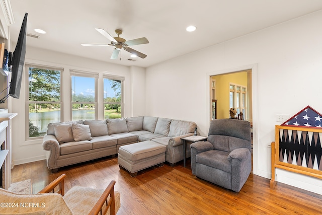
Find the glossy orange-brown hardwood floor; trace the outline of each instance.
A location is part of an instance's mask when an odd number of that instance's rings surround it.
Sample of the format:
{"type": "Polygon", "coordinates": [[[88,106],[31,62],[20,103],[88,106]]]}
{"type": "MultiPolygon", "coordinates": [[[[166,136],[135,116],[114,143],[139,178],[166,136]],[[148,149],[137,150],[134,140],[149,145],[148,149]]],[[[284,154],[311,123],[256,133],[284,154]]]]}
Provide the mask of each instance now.
{"type": "Polygon", "coordinates": [[[322,196],[277,183],[270,189],[269,179],[253,175],[239,193],[197,178],[190,160],[171,167],[152,167],[136,178],[120,170],[117,158],[105,158],[61,168],[51,173],[45,161],[15,166],[12,183],[32,179],[33,193],[61,174],[66,174],[65,192],[72,186],[105,189],[115,180],[121,193],[121,214],[321,214],[322,196]]]}

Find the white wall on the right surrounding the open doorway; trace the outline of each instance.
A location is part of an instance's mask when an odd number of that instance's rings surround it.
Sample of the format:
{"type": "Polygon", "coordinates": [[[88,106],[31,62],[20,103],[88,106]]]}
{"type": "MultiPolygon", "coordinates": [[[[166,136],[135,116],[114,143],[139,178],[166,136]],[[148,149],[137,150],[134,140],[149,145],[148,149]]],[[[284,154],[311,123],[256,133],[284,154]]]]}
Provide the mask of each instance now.
{"type": "MultiPolygon", "coordinates": [[[[209,75],[253,67],[254,173],[271,178],[276,114],[293,116],[307,105],[322,112],[321,23],[319,11],[148,67],[146,114],[195,121],[207,135],[209,75]]],[[[276,173],[279,182],[322,194],[319,179],[276,173]]]]}

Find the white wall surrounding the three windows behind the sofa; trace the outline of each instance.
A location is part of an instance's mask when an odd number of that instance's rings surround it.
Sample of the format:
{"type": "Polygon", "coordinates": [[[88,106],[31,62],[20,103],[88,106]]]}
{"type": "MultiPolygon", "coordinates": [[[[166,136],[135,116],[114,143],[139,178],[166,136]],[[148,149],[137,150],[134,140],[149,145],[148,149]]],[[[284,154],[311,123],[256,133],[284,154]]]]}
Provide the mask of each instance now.
{"type": "MultiPolygon", "coordinates": [[[[15,47],[16,44],[13,44],[15,47]]],[[[135,97],[137,94],[142,94],[142,89],[135,90],[135,85],[132,85],[133,81],[138,81],[141,76],[144,77],[144,68],[128,66],[121,66],[117,64],[106,63],[102,61],[96,61],[91,59],[80,58],[76,56],[66,55],[62,53],[52,52],[44,49],[37,49],[33,47],[27,47],[26,50],[26,63],[34,63],[40,65],[49,65],[64,68],[63,82],[64,82],[64,118],[62,121],[71,120],[70,116],[70,75],[69,69],[77,69],[82,71],[90,71],[99,74],[110,74],[115,76],[125,77],[124,81],[124,116],[129,117],[137,114],[144,114],[140,110],[144,110],[144,96],[141,98],[139,104],[135,104],[133,108],[132,92],[135,97]],[[143,70],[143,71],[142,71],[143,70]],[[134,86],[134,87],[133,87],[134,86]],[[133,89],[134,88],[134,89],[133,89]],[[141,108],[140,108],[141,107],[141,108]],[[134,110],[134,111],[133,111],[134,110]]],[[[11,112],[18,113],[12,120],[12,145],[13,145],[13,164],[23,164],[37,160],[45,159],[46,151],[42,149],[42,140],[25,140],[25,120],[26,118],[26,76],[22,79],[21,93],[19,99],[9,98],[11,100],[11,112]]],[[[144,86],[144,79],[140,81],[140,85],[144,86]]],[[[143,88],[144,89],[144,88],[143,88]]],[[[144,93],[144,92],[143,92],[144,93]]],[[[99,115],[99,119],[103,119],[104,114],[99,115]]]]}

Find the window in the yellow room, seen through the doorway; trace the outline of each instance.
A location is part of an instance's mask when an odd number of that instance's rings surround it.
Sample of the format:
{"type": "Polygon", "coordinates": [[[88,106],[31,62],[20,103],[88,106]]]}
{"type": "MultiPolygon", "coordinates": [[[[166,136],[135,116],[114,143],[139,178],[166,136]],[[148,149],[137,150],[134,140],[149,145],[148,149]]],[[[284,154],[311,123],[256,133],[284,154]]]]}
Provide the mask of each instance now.
{"type": "MultiPolygon", "coordinates": [[[[229,108],[236,108],[238,115],[240,112],[244,114],[246,119],[246,96],[247,88],[236,84],[229,84],[229,108]]],[[[237,116],[236,116],[237,117],[237,116]]]]}

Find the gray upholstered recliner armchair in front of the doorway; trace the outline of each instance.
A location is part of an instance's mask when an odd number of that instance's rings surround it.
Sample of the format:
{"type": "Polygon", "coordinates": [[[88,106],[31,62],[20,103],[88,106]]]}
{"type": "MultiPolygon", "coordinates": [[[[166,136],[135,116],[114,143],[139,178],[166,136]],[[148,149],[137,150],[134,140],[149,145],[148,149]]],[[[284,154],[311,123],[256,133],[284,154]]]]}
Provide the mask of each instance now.
{"type": "Polygon", "coordinates": [[[192,174],[235,192],[244,186],[252,171],[250,122],[214,119],[208,141],[190,147],[192,174]]]}

